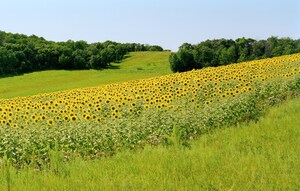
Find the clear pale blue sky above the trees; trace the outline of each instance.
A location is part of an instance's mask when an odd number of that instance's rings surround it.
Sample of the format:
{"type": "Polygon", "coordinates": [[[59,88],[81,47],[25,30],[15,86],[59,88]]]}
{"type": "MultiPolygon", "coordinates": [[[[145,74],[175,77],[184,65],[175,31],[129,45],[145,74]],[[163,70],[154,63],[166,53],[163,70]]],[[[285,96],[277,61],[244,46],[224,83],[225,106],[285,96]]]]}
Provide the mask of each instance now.
{"type": "Polygon", "coordinates": [[[299,39],[300,0],[0,0],[0,30],[172,51],[207,39],[299,39]]]}

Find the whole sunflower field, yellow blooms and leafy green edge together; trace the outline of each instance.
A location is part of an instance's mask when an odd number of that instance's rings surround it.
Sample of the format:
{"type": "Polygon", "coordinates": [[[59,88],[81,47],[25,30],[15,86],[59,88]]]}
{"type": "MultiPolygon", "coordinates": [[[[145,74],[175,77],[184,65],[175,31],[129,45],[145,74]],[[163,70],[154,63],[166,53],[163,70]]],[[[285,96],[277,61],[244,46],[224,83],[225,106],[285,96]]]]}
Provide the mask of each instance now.
{"type": "Polygon", "coordinates": [[[300,89],[300,54],[0,100],[0,158],[22,167],[107,157],[257,119],[300,89]]]}

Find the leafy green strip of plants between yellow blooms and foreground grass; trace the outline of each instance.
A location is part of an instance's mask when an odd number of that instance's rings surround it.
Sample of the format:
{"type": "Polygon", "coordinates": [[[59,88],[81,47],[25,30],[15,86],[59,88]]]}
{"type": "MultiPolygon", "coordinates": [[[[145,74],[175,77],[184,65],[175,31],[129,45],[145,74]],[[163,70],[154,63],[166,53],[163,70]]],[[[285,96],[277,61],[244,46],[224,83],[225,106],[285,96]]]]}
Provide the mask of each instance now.
{"type": "Polygon", "coordinates": [[[170,144],[188,146],[185,140],[213,129],[257,119],[270,105],[286,100],[299,81],[298,74],[290,79],[261,82],[256,85],[256,91],[214,101],[201,110],[182,100],[178,103],[180,107],[175,109],[153,108],[126,118],[104,118],[100,125],[96,121],[82,121],[60,123],[56,128],[3,126],[0,128],[0,158],[6,155],[18,168],[28,164],[43,168],[52,157],[52,166],[57,169],[62,161],[61,154],[65,160],[76,156],[103,158],[124,149],[158,145],[166,137],[170,144]],[[55,151],[52,156],[51,150],[55,151]]]}

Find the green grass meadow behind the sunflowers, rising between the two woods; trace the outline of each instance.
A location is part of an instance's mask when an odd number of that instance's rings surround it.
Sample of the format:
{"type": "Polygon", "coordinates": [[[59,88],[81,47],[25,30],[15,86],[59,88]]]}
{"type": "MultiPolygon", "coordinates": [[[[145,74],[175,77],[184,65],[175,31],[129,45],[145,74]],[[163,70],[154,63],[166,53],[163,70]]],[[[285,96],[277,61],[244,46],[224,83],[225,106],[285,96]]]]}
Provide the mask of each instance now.
{"type": "Polygon", "coordinates": [[[171,73],[170,52],[132,52],[111,69],[34,72],[0,79],[0,99],[97,86],[171,73]]]}

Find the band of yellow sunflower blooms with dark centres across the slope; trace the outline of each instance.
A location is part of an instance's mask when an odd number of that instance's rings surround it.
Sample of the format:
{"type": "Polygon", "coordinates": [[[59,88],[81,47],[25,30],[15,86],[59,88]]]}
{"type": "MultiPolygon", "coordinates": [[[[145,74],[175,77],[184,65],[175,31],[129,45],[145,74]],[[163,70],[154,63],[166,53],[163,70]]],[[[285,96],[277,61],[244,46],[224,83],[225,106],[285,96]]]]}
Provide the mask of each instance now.
{"type": "Polygon", "coordinates": [[[94,88],[0,101],[0,123],[11,127],[122,118],[149,108],[190,104],[201,109],[226,97],[256,90],[256,84],[299,73],[299,55],[114,83],[94,88]],[[288,63],[287,63],[288,62],[288,63]]]}

